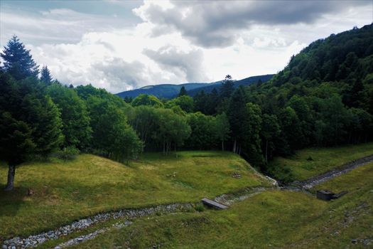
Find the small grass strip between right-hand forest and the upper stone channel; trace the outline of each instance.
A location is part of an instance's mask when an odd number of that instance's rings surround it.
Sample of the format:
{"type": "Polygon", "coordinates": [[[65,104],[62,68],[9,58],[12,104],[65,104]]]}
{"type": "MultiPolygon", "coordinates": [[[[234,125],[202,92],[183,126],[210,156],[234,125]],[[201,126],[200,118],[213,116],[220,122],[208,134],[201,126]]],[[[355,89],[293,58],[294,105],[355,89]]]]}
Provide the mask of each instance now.
{"type": "Polygon", "coordinates": [[[301,149],[291,157],[274,158],[269,163],[269,169],[276,179],[303,181],[371,154],[373,154],[373,143],[301,149]]]}

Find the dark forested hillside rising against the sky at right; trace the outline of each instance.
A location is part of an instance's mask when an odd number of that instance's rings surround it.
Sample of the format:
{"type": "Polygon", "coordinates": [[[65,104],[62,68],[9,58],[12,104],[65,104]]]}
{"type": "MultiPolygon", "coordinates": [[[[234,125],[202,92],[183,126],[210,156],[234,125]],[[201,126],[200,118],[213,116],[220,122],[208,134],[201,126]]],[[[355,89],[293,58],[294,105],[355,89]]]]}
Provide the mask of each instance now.
{"type": "Polygon", "coordinates": [[[353,28],[310,43],[293,56],[279,74],[274,85],[296,84],[301,80],[315,82],[361,82],[373,70],[373,23],[353,28]]]}

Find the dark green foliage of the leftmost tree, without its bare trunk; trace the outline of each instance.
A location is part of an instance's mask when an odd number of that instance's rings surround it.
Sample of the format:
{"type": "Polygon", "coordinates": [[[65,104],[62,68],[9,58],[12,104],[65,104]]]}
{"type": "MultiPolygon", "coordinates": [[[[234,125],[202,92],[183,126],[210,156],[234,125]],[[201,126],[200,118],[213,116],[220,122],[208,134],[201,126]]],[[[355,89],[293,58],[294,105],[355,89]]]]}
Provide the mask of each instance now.
{"type": "MultiPolygon", "coordinates": [[[[16,127],[22,127],[22,133],[31,130],[31,138],[28,139],[35,144],[33,153],[47,156],[60,145],[63,139],[58,108],[46,95],[45,88],[38,83],[36,78],[16,81],[6,73],[1,73],[0,77],[3,94],[0,99],[1,112],[7,112],[7,122],[13,120],[16,127]]],[[[26,134],[30,133],[26,132],[26,134]]],[[[14,146],[17,144],[18,142],[14,142],[14,146]]],[[[27,144],[30,143],[27,142],[27,144]]],[[[28,149],[24,153],[31,154],[28,149]]],[[[19,152],[19,157],[22,158],[21,154],[19,152]]]]}

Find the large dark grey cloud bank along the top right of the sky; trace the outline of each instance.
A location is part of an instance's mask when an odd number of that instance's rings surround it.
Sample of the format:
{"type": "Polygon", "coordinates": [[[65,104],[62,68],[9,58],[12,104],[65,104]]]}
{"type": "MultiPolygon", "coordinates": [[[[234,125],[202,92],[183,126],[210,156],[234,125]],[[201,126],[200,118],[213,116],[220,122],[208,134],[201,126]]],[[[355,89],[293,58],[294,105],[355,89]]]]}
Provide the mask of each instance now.
{"type": "Polygon", "coordinates": [[[255,24],[313,23],[326,14],[370,4],[371,1],[173,1],[172,8],[145,4],[134,12],[156,25],[154,36],[180,31],[199,46],[225,47],[234,43],[240,30],[255,24]]]}

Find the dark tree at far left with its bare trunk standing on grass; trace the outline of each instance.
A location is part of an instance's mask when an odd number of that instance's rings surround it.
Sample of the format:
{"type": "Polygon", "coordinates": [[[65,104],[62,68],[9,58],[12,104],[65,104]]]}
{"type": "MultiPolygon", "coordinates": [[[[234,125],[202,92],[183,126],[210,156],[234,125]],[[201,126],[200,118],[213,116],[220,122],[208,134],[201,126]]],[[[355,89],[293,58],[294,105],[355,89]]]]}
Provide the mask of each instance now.
{"type": "Polygon", "coordinates": [[[58,107],[36,78],[14,80],[0,72],[0,159],[9,166],[5,190],[13,189],[16,166],[47,156],[63,140],[58,107]]]}

